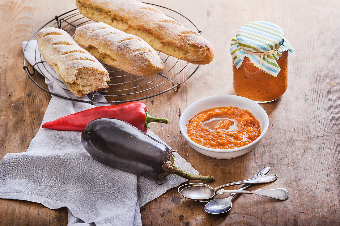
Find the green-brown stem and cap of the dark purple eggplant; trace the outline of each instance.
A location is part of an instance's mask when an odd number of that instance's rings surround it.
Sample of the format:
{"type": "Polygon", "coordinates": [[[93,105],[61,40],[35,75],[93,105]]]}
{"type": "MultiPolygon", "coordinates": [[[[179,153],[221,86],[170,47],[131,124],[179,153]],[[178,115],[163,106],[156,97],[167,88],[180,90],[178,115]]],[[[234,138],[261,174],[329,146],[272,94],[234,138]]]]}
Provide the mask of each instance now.
{"type": "Polygon", "coordinates": [[[164,162],[162,168],[164,169],[164,173],[160,174],[158,176],[158,179],[163,179],[167,176],[169,176],[170,174],[176,174],[179,175],[183,178],[186,178],[188,180],[204,180],[207,182],[211,182],[211,181],[215,181],[214,177],[208,175],[208,176],[203,176],[203,175],[192,175],[186,171],[184,171],[183,169],[181,169],[181,167],[179,167],[176,163],[175,163],[175,156],[172,154],[172,152],[169,153],[170,155],[170,161],[164,162]]]}

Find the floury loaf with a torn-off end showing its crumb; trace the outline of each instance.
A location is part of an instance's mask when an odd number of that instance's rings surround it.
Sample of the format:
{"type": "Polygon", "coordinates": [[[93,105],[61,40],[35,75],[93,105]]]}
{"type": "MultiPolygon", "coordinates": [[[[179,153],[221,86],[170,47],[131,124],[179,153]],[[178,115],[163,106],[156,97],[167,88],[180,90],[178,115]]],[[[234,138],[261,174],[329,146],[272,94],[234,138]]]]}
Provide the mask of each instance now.
{"type": "Polygon", "coordinates": [[[37,42],[40,54],[77,97],[108,88],[106,69],[67,32],[44,28],[37,33],[37,42]]]}

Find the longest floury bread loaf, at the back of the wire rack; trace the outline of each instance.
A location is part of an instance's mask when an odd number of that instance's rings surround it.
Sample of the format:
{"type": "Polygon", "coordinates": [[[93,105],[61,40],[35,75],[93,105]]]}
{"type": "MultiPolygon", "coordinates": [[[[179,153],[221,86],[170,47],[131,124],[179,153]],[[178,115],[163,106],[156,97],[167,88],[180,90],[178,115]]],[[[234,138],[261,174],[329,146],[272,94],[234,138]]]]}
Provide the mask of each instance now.
{"type": "Polygon", "coordinates": [[[155,50],[193,64],[209,64],[215,56],[212,44],[198,32],[156,8],[136,0],[76,0],[86,17],[136,35],[155,50]]]}

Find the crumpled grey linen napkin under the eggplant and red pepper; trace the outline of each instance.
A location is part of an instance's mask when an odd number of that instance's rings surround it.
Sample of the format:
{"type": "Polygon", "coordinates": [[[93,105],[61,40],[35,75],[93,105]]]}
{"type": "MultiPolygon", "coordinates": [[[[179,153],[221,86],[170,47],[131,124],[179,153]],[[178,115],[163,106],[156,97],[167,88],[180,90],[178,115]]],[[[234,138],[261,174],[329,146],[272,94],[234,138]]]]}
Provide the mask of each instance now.
{"type": "MultiPolygon", "coordinates": [[[[23,42],[23,48],[26,44],[23,42]]],[[[31,41],[27,48],[25,57],[33,65],[34,57],[40,58],[35,53],[36,41],[31,41]]],[[[71,97],[73,94],[63,89],[64,84],[53,76],[46,79],[49,90],[71,97]]],[[[105,101],[102,96],[97,98],[105,101]]],[[[43,123],[91,107],[95,106],[52,95],[43,123]]],[[[152,132],[148,134],[160,140],[152,132]]],[[[85,151],[80,135],[81,132],[54,131],[40,126],[26,152],[8,153],[1,160],[0,198],[37,202],[50,209],[66,206],[68,225],[141,225],[141,206],[187,181],[172,174],[163,185],[157,185],[152,179],[102,164],[85,151]]],[[[198,174],[180,155],[174,154],[179,166],[198,174]]]]}

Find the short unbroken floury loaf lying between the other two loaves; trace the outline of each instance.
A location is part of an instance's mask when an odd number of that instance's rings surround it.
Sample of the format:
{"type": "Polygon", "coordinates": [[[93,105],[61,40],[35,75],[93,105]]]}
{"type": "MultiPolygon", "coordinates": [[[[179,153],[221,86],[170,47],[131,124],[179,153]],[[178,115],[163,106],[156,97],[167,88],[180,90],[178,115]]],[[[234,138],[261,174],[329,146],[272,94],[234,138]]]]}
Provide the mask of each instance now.
{"type": "Polygon", "coordinates": [[[131,74],[152,75],[164,67],[157,52],[146,41],[103,22],[77,28],[74,40],[97,59],[131,74]]]}

